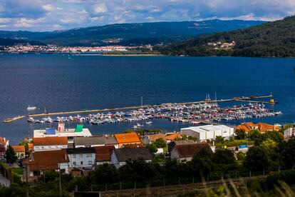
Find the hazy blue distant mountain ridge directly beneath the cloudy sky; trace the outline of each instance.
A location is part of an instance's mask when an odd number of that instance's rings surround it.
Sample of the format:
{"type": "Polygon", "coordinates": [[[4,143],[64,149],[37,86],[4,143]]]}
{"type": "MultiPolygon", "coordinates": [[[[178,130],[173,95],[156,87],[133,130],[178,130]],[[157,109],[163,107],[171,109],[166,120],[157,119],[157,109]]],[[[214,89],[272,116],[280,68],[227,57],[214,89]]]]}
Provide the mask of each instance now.
{"type": "Polygon", "coordinates": [[[264,21],[209,20],[110,24],[65,31],[0,31],[0,38],[38,40],[61,46],[169,44],[201,34],[243,29],[263,23],[264,21]]]}

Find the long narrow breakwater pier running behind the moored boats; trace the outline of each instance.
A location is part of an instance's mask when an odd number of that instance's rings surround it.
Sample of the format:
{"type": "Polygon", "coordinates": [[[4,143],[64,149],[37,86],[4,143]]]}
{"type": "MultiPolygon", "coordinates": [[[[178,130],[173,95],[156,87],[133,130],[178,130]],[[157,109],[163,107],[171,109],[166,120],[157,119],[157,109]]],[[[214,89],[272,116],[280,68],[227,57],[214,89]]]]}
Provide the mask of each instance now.
{"type": "MultiPolygon", "coordinates": [[[[93,113],[93,112],[103,112],[103,111],[121,111],[121,110],[128,110],[128,109],[138,109],[138,108],[152,108],[152,107],[161,107],[167,106],[171,104],[176,105],[191,105],[197,103],[217,103],[217,102],[228,102],[228,101],[244,101],[244,102],[256,102],[256,103],[269,103],[266,101],[251,101],[250,99],[259,99],[259,98],[272,98],[272,95],[266,96],[249,96],[249,97],[234,97],[234,98],[227,98],[227,99],[215,99],[215,100],[203,100],[203,101],[192,101],[192,102],[185,102],[185,103],[162,103],[157,105],[142,105],[142,106],[127,106],[127,107],[118,107],[118,108],[103,108],[103,109],[90,109],[90,110],[81,110],[81,111],[61,111],[61,112],[52,112],[52,113],[38,113],[38,114],[30,114],[30,117],[36,116],[58,116],[63,114],[78,114],[78,113],[93,113]]],[[[4,123],[10,123],[12,121],[17,121],[24,116],[17,116],[15,118],[7,118],[4,123]]]]}

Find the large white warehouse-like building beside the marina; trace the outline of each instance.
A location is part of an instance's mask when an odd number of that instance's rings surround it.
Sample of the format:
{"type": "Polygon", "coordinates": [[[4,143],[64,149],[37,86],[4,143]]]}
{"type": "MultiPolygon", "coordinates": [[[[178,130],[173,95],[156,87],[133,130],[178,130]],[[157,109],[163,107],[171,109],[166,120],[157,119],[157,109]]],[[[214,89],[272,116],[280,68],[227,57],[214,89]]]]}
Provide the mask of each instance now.
{"type": "Polygon", "coordinates": [[[229,138],[234,136],[234,128],[225,125],[205,125],[205,126],[192,126],[188,128],[181,128],[180,132],[187,136],[197,137],[199,141],[212,140],[216,136],[229,138]]]}

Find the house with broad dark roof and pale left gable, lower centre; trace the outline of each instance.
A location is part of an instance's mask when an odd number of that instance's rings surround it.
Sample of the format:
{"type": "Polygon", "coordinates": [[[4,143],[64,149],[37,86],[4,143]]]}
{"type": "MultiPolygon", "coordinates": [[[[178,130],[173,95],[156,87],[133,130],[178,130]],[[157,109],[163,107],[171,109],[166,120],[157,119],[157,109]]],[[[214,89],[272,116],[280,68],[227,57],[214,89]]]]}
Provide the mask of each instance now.
{"type": "Polygon", "coordinates": [[[115,148],[110,156],[110,162],[116,167],[124,166],[128,159],[143,158],[145,162],[152,162],[152,156],[147,147],[115,148]]]}

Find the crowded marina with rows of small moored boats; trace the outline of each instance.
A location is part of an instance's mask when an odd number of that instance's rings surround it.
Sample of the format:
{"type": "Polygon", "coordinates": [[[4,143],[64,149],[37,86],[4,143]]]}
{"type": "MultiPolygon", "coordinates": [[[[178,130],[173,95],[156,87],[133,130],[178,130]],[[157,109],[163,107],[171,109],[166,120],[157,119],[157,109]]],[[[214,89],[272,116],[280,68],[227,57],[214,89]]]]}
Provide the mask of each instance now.
{"type": "MultiPolygon", "coordinates": [[[[232,98],[231,101],[245,101],[250,97],[232,98]],[[243,100],[241,100],[243,99],[243,100]]],[[[261,98],[257,96],[256,98],[261,98]]],[[[263,98],[267,98],[263,96],[263,98]]],[[[219,100],[219,101],[229,101],[219,100]]],[[[246,118],[262,118],[267,116],[281,115],[281,111],[274,111],[265,107],[264,103],[246,103],[222,108],[218,105],[218,100],[197,101],[192,103],[165,103],[156,106],[137,106],[130,108],[116,108],[122,111],[111,113],[111,109],[103,113],[89,113],[86,116],[57,116],[51,118],[48,113],[46,117],[35,119],[36,115],[29,115],[29,123],[53,123],[53,122],[78,122],[100,125],[106,123],[138,122],[145,121],[145,124],[152,124],[152,119],[166,118],[169,121],[182,123],[218,123],[220,121],[237,121],[246,118]]],[[[85,111],[83,111],[85,113],[85,111]]],[[[56,113],[53,113],[56,114],[56,113]]],[[[38,114],[37,114],[38,115],[38,114]]],[[[38,115],[40,116],[40,115],[38,115]]],[[[133,128],[143,128],[143,124],[136,123],[133,128]]]]}

